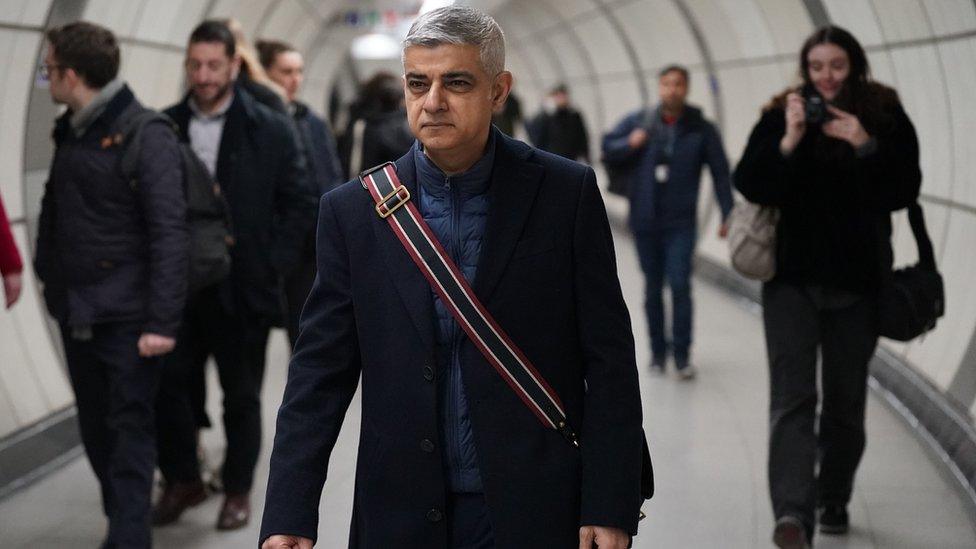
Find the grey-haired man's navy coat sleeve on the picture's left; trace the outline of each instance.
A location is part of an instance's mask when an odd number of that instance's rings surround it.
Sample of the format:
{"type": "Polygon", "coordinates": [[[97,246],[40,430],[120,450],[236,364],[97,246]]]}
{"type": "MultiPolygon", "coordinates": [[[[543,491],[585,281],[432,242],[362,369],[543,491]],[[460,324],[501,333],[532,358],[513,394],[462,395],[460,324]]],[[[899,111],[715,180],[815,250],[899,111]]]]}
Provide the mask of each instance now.
{"type": "Polygon", "coordinates": [[[301,335],[278,410],[262,541],[274,534],[316,539],[329,456],[359,383],[349,252],[332,196],[321,201],[318,276],[302,313],[301,335]]]}

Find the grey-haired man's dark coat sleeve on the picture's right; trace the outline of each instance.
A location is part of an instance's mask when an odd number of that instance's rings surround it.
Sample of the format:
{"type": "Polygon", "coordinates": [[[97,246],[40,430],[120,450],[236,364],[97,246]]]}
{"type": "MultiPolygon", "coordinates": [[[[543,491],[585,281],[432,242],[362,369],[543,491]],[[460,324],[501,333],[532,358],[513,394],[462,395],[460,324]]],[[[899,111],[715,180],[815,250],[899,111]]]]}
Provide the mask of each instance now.
{"type": "Polygon", "coordinates": [[[586,396],[580,429],[580,524],[637,531],[641,401],[630,315],[596,176],[587,169],[573,236],[574,286],[586,396]]]}

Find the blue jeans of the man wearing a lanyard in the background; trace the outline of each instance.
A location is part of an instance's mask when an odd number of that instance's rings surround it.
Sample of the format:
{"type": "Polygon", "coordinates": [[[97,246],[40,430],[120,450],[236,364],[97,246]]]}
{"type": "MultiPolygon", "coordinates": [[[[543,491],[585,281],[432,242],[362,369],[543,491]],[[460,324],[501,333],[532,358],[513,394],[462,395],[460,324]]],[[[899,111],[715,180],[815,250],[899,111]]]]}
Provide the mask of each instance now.
{"type": "Polygon", "coordinates": [[[693,306],[691,300],[691,259],[697,232],[694,227],[634,233],[637,255],[644,271],[647,325],[651,332],[651,353],[663,362],[668,353],[664,335],[664,282],[671,288],[671,350],[678,367],[688,363],[691,349],[693,306]]]}

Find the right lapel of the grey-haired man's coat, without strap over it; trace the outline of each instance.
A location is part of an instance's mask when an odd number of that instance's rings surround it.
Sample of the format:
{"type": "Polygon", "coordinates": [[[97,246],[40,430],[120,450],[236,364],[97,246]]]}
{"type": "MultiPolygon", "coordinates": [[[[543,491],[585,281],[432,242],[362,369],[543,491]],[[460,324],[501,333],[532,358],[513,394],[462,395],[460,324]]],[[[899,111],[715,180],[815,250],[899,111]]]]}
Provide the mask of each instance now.
{"type": "Polygon", "coordinates": [[[527,160],[532,149],[501,132],[495,137],[495,167],[488,190],[491,206],[474,281],[475,294],[483,303],[508,266],[542,179],[542,166],[527,160]]]}

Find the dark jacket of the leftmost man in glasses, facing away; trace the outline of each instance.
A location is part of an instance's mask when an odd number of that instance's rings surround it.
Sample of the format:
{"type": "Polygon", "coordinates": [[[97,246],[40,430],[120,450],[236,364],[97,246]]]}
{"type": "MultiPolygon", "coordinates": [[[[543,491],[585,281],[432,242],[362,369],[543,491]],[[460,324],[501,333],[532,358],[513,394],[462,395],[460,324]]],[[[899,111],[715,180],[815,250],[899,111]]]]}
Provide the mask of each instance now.
{"type": "Polygon", "coordinates": [[[180,152],[165,124],[147,126],[139,184],[130,186],[120,166],[121,131],[143,109],[123,87],[80,138],[71,111],[58,119],[35,267],[59,322],[140,322],[143,332],[173,337],[189,246],[180,152]]]}

